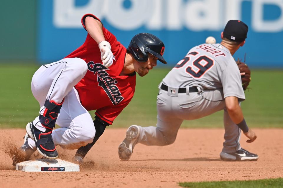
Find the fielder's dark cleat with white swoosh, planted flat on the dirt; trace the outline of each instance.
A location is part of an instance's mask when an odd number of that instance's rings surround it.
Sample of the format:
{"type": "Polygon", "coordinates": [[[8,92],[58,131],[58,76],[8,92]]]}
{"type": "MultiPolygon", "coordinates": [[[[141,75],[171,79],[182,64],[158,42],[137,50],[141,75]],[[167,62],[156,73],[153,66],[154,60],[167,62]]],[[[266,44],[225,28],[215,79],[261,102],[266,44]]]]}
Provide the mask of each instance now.
{"type": "Polygon", "coordinates": [[[220,159],[223,161],[256,161],[258,158],[258,155],[250,153],[243,148],[232,153],[220,153],[220,159]]]}

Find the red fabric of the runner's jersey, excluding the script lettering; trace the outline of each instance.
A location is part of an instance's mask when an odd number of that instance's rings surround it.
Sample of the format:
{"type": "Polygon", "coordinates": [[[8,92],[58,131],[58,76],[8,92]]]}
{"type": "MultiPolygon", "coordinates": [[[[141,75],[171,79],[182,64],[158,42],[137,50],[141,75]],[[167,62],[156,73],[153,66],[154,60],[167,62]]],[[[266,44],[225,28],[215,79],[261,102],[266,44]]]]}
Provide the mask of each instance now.
{"type": "MultiPolygon", "coordinates": [[[[93,14],[85,14],[82,18],[84,28],[87,16],[100,21],[93,14]]],[[[95,114],[98,117],[112,124],[134,96],[136,74],[132,76],[119,75],[124,67],[126,48],[104,27],[103,34],[106,41],[110,43],[114,55],[113,64],[108,68],[103,66],[98,44],[89,34],[84,44],[66,58],[78,57],[85,60],[88,71],[84,78],[75,85],[81,104],[87,110],[96,110],[95,114]]]]}

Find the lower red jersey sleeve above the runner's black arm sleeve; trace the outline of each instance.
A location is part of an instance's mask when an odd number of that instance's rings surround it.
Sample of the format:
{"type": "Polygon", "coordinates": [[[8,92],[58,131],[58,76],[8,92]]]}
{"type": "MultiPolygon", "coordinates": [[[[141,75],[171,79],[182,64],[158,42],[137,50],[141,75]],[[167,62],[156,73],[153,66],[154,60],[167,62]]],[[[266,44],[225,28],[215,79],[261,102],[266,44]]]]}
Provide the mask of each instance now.
{"type": "Polygon", "coordinates": [[[118,106],[97,109],[95,115],[100,117],[103,121],[112,125],[114,119],[122,112],[122,110],[129,104],[129,102],[130,100],[123,104],[119,104],[118,106]]]}

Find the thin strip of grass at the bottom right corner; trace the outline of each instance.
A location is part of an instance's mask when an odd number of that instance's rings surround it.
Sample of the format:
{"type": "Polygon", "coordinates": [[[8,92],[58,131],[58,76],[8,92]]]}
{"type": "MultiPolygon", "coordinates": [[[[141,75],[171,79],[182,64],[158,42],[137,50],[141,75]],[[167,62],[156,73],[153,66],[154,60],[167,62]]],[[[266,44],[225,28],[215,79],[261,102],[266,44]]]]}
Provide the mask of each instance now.
{"type": "Polygon", "coordinates": [[[260,179],[249,181],[223,181],[223,182],[183,182],[179,183],[182,187],[190,188],[281,188],[283,187],[283,178],[260,179]]]}

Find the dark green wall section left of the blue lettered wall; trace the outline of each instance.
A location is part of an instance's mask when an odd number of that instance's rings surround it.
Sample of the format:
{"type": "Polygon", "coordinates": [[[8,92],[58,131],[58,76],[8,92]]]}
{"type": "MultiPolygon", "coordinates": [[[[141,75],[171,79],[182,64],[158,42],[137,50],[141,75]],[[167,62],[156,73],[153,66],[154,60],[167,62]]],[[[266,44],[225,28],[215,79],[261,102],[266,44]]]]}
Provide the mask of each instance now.
{"type": "Polygon", "coordinates": [[[0,1],[0,62],[35,61],[36,0],[0,1]]]}

